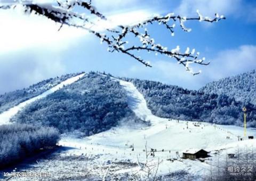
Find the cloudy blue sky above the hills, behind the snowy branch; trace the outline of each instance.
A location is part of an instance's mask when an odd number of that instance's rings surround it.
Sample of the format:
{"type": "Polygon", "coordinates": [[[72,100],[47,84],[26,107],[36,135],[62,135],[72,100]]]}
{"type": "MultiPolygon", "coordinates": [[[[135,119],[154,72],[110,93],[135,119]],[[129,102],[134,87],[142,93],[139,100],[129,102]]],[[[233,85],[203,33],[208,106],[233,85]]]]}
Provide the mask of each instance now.
{"type": "MultiPolygon", "coordinates": [[[[1,1],[0,1],[1,2],[1,1]]],[[[93,35],[64,27],[18,10],[0,10],[0,93],[23,88],[37,81],[79,71],[105,71],[114,76],[162,81],[198,89],[213,80],[256,69],[256,2],[242,0],[94,0],[98,10],[123,21],[144,19],[154,13],[196,16],[196,10],[213,17],[224,14],[218,23],[187,22],[192,31],[175,27],[175,36],[157,24],[148,27],[156,42],[170,49],[196,48],[211,63],[195,67],[202,73],[192,76],[175,60],[142,54],[153,68],[146,68],[122,53],[109,53],[93,35]],[[124,17],[125,16],[125,17],[124,17]]],[[[129,40],[129,42],[132,41],[129,40]]]]}

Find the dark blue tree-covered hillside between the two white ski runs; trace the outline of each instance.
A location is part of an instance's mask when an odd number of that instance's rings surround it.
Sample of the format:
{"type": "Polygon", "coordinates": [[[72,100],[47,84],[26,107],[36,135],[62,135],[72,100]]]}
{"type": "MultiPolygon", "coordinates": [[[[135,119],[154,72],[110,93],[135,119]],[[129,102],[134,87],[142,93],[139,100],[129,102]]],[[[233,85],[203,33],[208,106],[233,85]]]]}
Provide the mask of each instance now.
{"type": "Polygon", "coordinates": [[[27,105],[14,117],[19,123],[53,126],[61,133],[77,130],[82,135],[108,130],[124,119],[139,121],[127,105],[125,90],[95,72],[27,105]]]}

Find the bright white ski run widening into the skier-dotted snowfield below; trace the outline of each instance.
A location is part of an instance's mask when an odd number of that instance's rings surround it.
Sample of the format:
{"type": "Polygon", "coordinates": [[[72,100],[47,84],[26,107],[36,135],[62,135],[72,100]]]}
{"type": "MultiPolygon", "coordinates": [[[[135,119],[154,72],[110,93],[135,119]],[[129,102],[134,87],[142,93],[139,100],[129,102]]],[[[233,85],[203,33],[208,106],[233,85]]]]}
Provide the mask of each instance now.
{"type": "MultiPolygon", "coordinates": [[[[63,138],[61,145],[76,147],[78,150],[72,154],[101,155],[95,164],[106,163],[107,160],[126,160],[137,163],[145,162],[145,145],[147,149],[156,149],[155,157],[150,157],[152,163],[159,164],[158,175],[169,174],[186,170],[190,174],[203,178],[209,174],[211,165],[198,160],[181,159],[182,151],[186,149],[205,149],[209,152],[216,150],[233,150],[237,145],[256,145],[255,139],[237,142],[237,136],[243,136],[243,128],[237,126],[213,125],[201,122],[194,126],[193,121],[177,121],[154,116],[147,107],[143,95],[130,82],[112,78],[119,81],[127,93],[127,102],[130,109],[142,120],[150,121],[151,126],[120,125],[85,139],[63,138]],[[227,139],[227,136],[230,139],[227,139]],[[133,145],[134,151],[131,146],[133,145]],[[178,155],[176,154],[178,152],[178,155]],[[167,161],[167,159],[177,159],[167,161]]],[[[247,129],[248,135],[256,136],[255,129],[247,129]]],[[[225,152],[226,153],[226,152],[225,152]]],[[[214,155],[211,154],[213,157],[214,155]]],[[[223,152],[223,158],[225,154],[223,152]]],[[[226,158],[226,157],[225,157],[226,158]]],[[[92,170],[93,171],[93,170],[92,170]]],[[[118,173],[140,172],[139,166],[135,168],[121,169],[118,173]]]]}

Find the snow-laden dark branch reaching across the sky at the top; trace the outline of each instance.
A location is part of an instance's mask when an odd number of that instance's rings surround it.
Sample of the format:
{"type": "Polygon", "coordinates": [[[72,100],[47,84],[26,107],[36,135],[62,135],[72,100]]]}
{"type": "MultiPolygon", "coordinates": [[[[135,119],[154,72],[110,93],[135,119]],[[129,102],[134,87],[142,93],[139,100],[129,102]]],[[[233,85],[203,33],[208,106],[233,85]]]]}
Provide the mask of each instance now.
{"type": "Polygon", "coordinates": [[[193,75],[197,75],[201,71],[194,72],[191,68],[191,64],[196,63],[200,65],[208,65],[210,62],[205,63],[204,57],[199,59],[199,52],[195,53],[194,48],[190,51],[190,48],[188,47],[185,52],[182,52],[179,46],[168,50],[167,47],[155,42],[154,38],[151,37],[146,27],[148,24],[158,23],[159,26],[164,26],[164,28],[170,31],[171,36],[174,36],[175,23],[178,23],[183,31],[190,32],[191,29],[187,28],[184,24],[186,21],[197,20],[212,23],[225,19],[223,15],[219,15],[218,13],[215,14],[214,18],[203,17],[203,15],[200,14],[198,10],[198,16],[195,18],[181,17],[180,15],[169,13],[164,16],[155,15],[139,23],[130,24],[129,26],[124,24],[120,24],[115,27],[106,26],[103,27],[103,29],[106,31],[106,34],[103,34],[102,29],[97,28],[101,26],[99,22],[111,22],[105,15],[97,11],[97,9],[92,5],[91,1],[86,2],[82,0],[57,0],[51,3],[39,3],[39,1],[35,0],[13,0],[9,1],[8,3],[0,4],[0,9],[15,9],[17,6],[22,6],[25,13],[35,13],[37,15],[42,15],[46,18],[49,18],[54,22],[60,23],[59,30],[62,28],[63,24],[85,29],[100,38],[101,43],[106,43],[109,52],[121,52],[129,55],[133,59],[146,65],[146,67],[151,67],[151,65],[148,61],[137,55],[138,51],[154,52],[155,55],[161,54],[175,59],[193,75]],[[76,12],[77,8],[82,8],[84,12],[76,12]],[[130,45],[129,42],[127,42],[126,39],[129,35],[132,35],[135,37],[135,39],[139,40],[138,45],[130,45]]]}

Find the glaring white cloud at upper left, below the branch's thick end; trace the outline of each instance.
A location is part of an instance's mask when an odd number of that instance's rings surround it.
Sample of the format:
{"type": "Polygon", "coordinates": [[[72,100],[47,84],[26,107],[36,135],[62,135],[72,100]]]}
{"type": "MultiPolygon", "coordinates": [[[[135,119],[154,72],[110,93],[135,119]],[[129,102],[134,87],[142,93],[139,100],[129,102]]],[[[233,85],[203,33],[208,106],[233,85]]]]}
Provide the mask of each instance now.
{"type": "Polygon", "coordinates": [[[25,15],[16,10],[0,10],[0,55],[29,47],[67,48],[75,38],[87,32],[59,24],[35,14],[25,15]]]}

